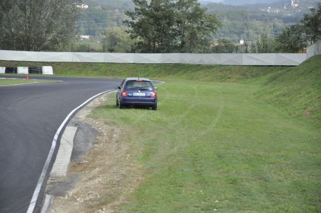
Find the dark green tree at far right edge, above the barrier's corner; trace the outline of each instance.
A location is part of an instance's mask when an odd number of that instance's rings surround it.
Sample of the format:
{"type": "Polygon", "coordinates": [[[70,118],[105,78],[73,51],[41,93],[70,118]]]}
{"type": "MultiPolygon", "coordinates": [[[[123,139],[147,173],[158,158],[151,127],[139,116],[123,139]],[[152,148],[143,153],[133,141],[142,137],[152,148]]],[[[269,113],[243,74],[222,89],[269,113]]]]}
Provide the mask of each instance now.
{"type": "Polygon", "coordinates": [[[321,3],[315,8],[310,9],[311,14],[304,14],[300,22],[303,24],[306,39],[310,44],[321,39],[321,3]]]}

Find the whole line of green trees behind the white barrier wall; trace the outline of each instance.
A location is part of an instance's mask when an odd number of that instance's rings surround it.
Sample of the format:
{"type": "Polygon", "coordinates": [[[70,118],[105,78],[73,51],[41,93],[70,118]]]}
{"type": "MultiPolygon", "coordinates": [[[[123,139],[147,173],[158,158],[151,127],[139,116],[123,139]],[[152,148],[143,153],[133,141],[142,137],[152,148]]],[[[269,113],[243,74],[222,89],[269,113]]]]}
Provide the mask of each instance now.
{"type": "MultiPolygon", "coordinates": [[[[79,0],[0,0],[0,48],[65,51],[75,41],[81,15],[79,0]]],[[[252,44],[235,46],[228,39],[213,42],[222,24],[197,0],[133,0],[124,25],[107,29],[96,46],[105,52],[130,53],[272,53],[299,52],[321,39],[321,3],[298,24],[277,37],[262,34],[252,44]]],[[[90,13],[88,13],[90,14],[90,13]]],[[[90,23],[90,22],[89,22],[90,23]]],[[[223,23],[224,24],[224,23],[223,23]]],[[[90,50],[89,46],[82,48],[90,50]]],[[[77,50],[75,50],[77,51],[77,50]]]]}

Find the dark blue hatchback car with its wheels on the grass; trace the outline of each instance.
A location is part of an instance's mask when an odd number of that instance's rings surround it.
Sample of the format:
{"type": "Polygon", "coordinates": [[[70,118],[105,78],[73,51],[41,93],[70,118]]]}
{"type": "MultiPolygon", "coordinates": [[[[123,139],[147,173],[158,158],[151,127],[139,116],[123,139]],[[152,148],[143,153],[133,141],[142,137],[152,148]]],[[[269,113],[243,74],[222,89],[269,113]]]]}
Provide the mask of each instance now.
{"type": "Polygon", "coordinates": [[[152,110],[157,109],[157,96],[152,82],[147,78],[126,78],[118,89],[116,94],[116,105],[119,109],[125,105],[150,106],[152,110]]]}

